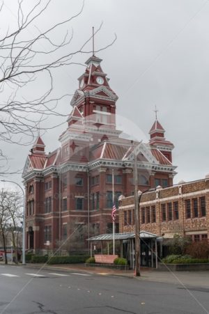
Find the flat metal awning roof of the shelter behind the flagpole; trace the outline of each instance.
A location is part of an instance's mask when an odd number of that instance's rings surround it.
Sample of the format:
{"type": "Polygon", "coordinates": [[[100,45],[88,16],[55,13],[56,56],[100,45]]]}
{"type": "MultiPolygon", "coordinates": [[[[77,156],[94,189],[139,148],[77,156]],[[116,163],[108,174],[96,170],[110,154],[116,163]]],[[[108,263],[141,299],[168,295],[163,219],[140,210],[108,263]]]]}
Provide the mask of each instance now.
{"type": "MultiPolygon", "coordinates": [[[[153,233],[147,233],[146,231],[141,231],[140,237],[143,239],[157,239],[157,235],[153,233]]],[[[135,233],[115,233],[115,240],[127,240],[133,239],[135,237],[135,233]]],[[[113,240],[112,233],[106,233],[104,235],[96,235],[95,237],[90,237],[88,241],[110,241],[113,240]]]]}

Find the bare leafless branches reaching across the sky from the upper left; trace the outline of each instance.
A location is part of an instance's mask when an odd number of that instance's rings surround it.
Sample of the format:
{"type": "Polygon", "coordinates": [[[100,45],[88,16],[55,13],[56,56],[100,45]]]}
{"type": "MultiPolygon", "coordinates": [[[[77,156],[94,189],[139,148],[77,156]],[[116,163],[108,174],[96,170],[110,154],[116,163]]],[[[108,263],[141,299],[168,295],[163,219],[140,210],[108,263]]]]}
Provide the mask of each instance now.
{"type": "MultiPolygon", "coordinates": [[[[91,37],[72,51],[73,32],[69,34],[68,29],[70,22],[82,14],[84,3],[75,15],[45,29],[38,26],[51,0],[30,1],[30,8],[29,1],[17,0],[16,3],[17,23],[11,29],[4,29],[4,33],[1,29],[0,35],[0,141],[30,143],[40,121],[61,114],[56,106],[67,95],[53,95],[56,69],[79,64],[74,61],[75,56],[89,53],[85,47],[91,37]],[[65,33],[61,33],[63,29],[66,29],[65,33]],[[58,33],[59,39],[54,40],[58,33]],[[40,84],[38,91],[36,83],[41,79],[45,84],[40,84]],[[33,95],[28,92],[31,86],[36,86],[33,95]]],[[[2,3],[0,20],[1,15],[6,14],[6,8],[6,3],[2,3]]]]}

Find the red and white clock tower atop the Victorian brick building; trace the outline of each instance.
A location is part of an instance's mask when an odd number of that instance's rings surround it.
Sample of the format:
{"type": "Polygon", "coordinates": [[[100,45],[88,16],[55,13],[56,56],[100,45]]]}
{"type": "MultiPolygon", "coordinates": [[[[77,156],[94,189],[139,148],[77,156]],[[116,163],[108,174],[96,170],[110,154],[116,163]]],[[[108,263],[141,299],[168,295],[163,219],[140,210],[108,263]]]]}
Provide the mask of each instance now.
{"type": "Polygon", "coordinates": [[[79,88],[71,101],[72,107],[77,107],[82,114],[85,132],[93,135],[94,143],[102,139],[116,138],[121,134],[116,130],[118,96],[110,88],[101,62],[102,59],[94,55],[88,58],[86,71],[78,78],[79,88]]]}

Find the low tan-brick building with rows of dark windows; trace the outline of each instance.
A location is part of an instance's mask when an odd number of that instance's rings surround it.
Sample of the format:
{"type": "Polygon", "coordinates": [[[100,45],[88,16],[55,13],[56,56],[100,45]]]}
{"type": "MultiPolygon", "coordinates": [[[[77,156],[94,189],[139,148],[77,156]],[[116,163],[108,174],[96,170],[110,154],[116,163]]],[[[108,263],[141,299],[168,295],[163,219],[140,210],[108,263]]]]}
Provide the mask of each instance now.
{"type": "MultiPolygon", "coordinates": [[[[194,241],[209,238],[209,177],[180,182],[173,187],[149,191],[141,196],[141,230],[160,237],[187,235],[194,241]]],[[[120,232],[134,232],[134,197],[123,198],[119,207],[120,232]]]]}

